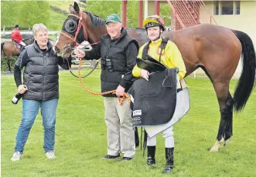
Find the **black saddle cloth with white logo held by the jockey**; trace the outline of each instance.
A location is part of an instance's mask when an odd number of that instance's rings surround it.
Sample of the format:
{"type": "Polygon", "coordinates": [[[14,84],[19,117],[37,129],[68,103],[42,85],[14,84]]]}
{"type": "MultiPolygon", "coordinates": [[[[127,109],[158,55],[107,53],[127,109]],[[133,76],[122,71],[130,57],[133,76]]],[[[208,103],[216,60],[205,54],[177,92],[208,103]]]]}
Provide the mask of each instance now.
{"type": "MultiPolygon", "coordinates": [[[[150,66],[151,71],[155,68],[162,66],[150,66]]],[[[177,68],[166,68],[150,75],[148,81],[140,78],[134,82],[128,91],[133,97],[133,126],[162,125],[172,119],[176,109],[176,75],[177,68]]]]}

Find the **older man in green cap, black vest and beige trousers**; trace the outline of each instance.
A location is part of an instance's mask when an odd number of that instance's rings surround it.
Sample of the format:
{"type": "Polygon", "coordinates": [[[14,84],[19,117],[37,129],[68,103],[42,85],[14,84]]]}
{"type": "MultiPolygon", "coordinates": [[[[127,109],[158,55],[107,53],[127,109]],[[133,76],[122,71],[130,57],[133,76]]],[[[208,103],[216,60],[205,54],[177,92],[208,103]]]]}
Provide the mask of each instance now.
{"type": "Polygon", "coordinates": [[[75,49],[78,58],[86,60],[101,58],[101,92],[116,90],[116,95],[104,95],[105,123],[107,125],[108,155],[104,159],[116,159],[120,152],[123,160],[135,155],[135,132],[132,129],[130,104],[127,99],[119,105],[132,85],[132,69],[138,55],[138,42],[122,27],[121,18],[112,14],[105,20],[108,34],[89,52],[75,49]]]}

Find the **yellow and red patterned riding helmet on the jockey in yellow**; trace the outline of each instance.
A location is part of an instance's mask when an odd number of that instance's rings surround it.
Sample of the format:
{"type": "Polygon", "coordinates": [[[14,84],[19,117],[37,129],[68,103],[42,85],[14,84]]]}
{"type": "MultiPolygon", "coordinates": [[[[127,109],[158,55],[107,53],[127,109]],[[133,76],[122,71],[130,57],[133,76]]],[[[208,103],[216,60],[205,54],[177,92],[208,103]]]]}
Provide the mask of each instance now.
{"type": "Polygon", "coordinates": [[[162,31],[165,31],[166,24],[165,21],[159,16],[159,15],[151,15],[145,18],[143,21],[143,26],[145,29],[154,27],[154,26],[160,26],[162,28],[162,31]]]}

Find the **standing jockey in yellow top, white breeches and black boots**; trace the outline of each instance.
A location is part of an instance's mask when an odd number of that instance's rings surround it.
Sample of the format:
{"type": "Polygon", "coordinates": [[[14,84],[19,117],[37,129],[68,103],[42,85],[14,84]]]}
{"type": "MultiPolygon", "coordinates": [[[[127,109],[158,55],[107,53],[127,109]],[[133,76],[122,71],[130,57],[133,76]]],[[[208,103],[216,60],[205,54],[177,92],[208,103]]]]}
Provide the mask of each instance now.
{"type": "MultiPolygon", "coordinates": [[[[186,110],[188,111],[189,103],[184,104],[184,102],[182,103],[179,101],[179,96],[182,94],[185,94],[186,98],[189,99],[186,83],[183,80],[183,78],[186,75],[186,67],[183,62],[182,55],[179,52],[179,48],[177,48],[175,43],[169,41],[168,38],[161,38],[161,34],[165,30],[165,22],[159,15],[148,16],[148,18],[144,20],[143,26],[147,31],[148,38],[150,39],[150,41],[145,45],[142,45],[142,47],[139,49],[138,58],[144,59],[143,56],[145,56],[145,54],[148,54],[152,56],[152,58],[154,58],[155,60],[161,62],[163,65],[166,65],[167,68],[179,69],[179,72],[177,74],[178,102],[176,102],[176,109],[184,108],[185,106],[186,110]],[[162,44],[164,44],[165,46],[164,48],[162,48],[162,44]]],[[[133,68],[132,74],[135,77],[145,78],[147,81],[148,79],[150,79],[150,77],[148,76],[149,72],[145,69],[138,68],[138,65],[135,65],[135,68],[133,68]]],[[[152,104],[155,104],[155,103],[152,102],[152,104]]],[[[176,109],[175,109],[175,112],[176,112],[176,109]]],[[[183,112],[183,115],[186,112],[183,112]]],[[[180,115],[179,119],[181,119],[183,115],[180,115]]],[[[172,168],[173,168],[174,138],[173,138],[173,132],[172,132],[172,125],[178,121],[173,123],[172,119],[171,121],[167,122],[164,125],[145,126],[145,132],[147,132],[147,149],[148,149],[147,164],[148,165],[155,164],[155,145],[156,145],[155,135],[157,135],[159,132],[162,132],[162,135],[165,138],[166,168],[163,170],[163,173],[172,172],[172,168]]]]}

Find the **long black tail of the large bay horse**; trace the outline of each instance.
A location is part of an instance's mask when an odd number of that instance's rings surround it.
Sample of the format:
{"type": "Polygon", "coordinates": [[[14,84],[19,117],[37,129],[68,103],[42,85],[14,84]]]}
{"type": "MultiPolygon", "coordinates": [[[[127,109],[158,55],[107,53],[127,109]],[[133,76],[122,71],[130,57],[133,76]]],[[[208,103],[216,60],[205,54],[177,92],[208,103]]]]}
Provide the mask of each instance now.
{"type": "Polygon", "coordinates": [[[234,92],[234,109],[241,112],[254,88],[256,55],[251,38],[244,32],[233,30],[242,45],[243,68],[234,92]]]}

